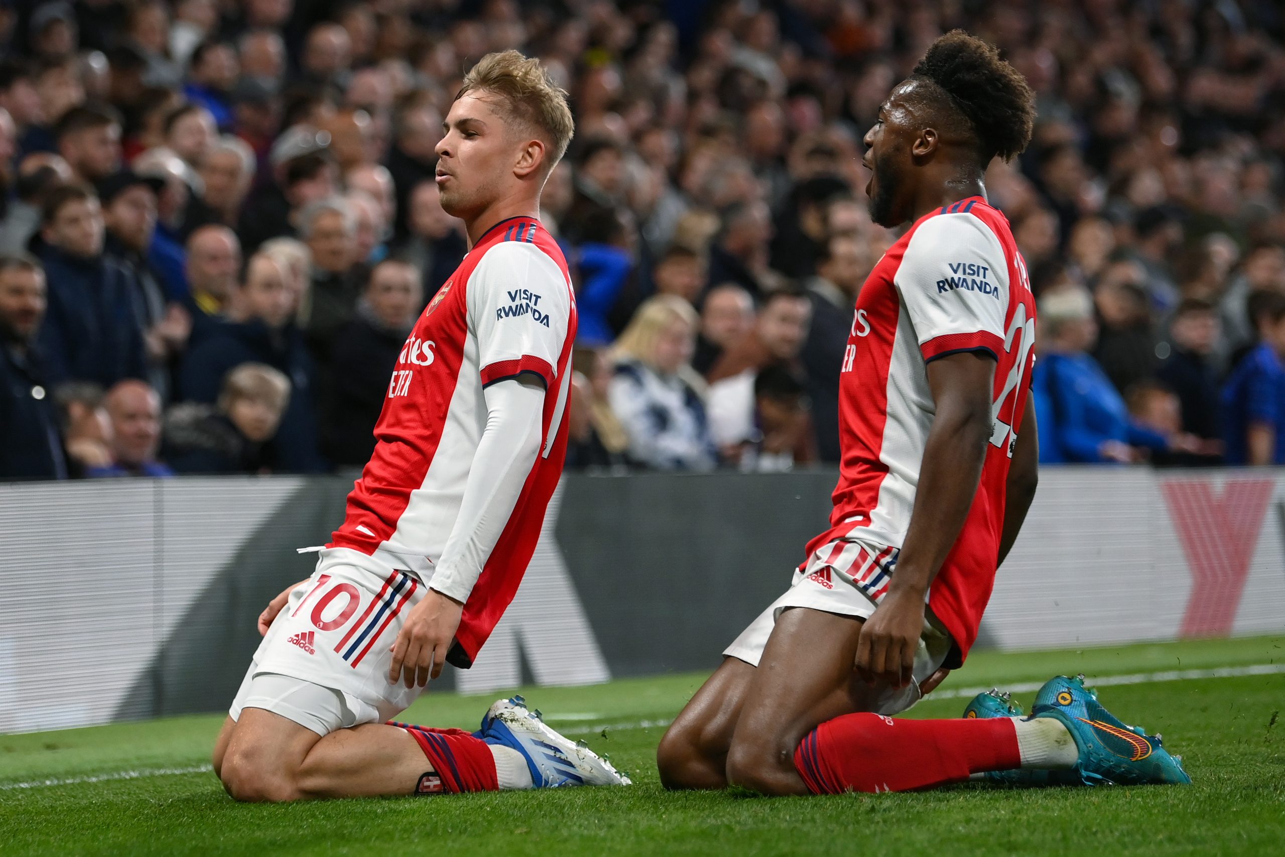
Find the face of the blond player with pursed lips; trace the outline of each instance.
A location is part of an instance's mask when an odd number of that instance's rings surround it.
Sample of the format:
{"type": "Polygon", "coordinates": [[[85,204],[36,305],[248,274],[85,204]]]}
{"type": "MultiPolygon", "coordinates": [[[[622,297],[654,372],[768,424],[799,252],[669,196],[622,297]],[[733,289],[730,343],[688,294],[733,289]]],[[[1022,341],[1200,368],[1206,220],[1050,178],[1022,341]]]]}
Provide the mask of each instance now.
{"type": "Polygon", "coordinates": [[[446,213],[472,220],[499,200],[514,181],[523,149],[493,98],[468,93],[451,104],[437,144],[437,188],[446,213]]]}

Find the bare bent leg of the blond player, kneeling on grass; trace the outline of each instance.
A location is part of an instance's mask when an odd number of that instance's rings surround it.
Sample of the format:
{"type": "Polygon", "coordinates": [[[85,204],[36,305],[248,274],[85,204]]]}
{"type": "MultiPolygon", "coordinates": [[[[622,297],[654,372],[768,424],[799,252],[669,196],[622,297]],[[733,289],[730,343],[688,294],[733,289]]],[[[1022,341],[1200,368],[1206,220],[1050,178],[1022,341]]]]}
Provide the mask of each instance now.
{"type": "Polygon", "coordinates": [[[411,794],[432,771],[415,739],[397,726],[365,723],[320,738],[262,708],[245,708],[230,738],[220,735],[215,763],[238,800],[411,794]]]}

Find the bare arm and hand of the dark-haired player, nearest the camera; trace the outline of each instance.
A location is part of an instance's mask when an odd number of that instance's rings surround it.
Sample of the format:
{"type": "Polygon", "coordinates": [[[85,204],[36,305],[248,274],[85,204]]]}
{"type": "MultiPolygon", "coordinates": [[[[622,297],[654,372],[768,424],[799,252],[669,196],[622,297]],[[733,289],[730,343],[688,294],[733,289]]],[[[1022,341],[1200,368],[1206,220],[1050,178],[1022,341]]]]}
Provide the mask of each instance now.
{"type": "Polygon", "coordinates": [[[937,415],[924,445],[915,506],[888,592],[861,628],[856,669],[902,687],[924,631],[928,587],[946,561],[977,495],[991,445],[995,358],[968,351],[928,364],[937,415]]]}

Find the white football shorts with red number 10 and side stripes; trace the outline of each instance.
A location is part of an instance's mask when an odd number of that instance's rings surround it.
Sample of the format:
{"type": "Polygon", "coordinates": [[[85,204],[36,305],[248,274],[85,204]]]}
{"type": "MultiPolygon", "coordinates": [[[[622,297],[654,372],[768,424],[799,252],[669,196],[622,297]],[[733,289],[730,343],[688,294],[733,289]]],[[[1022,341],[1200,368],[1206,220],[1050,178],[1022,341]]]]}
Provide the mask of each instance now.
{"type": "Polygon", "coordinates": [[[391,649],[425,591],[410,572],[323,549],[260,642],[229,714],[263,708],[320,735],[396,717],[423,689],[389,684],[391,649]]]}

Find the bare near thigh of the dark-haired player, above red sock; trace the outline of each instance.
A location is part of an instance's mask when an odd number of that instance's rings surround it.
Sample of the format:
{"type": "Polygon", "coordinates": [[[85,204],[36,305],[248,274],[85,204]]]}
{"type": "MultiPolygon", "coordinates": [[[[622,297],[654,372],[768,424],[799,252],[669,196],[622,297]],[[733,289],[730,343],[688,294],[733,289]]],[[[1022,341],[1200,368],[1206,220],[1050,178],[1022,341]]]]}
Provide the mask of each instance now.
{"type": "MultiPolygon", "coordinates": [[[[852,671],[861,619],[810,608],[777,617],[754,669],[729,752],[729,776],[793,775],[794,749],[817,725],[860,711],[852,671]]],[[[797,776],[797,775],[794,775],[797,776]]]]}

